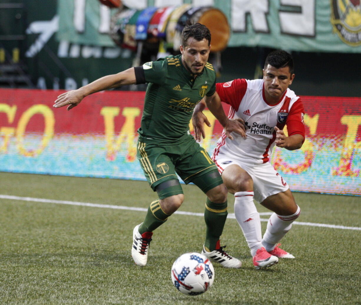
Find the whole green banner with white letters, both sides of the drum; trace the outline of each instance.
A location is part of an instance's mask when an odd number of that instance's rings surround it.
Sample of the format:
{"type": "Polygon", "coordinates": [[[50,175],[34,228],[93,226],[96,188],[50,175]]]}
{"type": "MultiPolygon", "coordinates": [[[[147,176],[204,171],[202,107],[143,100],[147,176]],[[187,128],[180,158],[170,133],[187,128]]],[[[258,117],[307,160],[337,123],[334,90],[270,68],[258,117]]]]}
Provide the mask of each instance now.
{"type": "MultiPolygon", "coordinates": [[[[360,0],[125,0],[129,7],[213,5],[227,16],[228,46],[303,52],[361,52],[360,0]]],[[[107,34],[109,9],[98,0],[58,0],[59,40],[114,46],[107,34]]]]}

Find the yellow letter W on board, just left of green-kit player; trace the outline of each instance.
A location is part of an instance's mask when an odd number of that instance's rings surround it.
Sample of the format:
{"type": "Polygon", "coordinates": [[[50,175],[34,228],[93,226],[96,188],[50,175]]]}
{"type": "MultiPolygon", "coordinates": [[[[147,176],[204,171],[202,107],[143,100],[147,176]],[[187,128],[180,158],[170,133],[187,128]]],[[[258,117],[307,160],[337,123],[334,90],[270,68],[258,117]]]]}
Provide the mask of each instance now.
{"type": "Polygon", "coordinates": [[[135,118],[139,116],[138,107],[124,107],[122,115],[125,123],[119,133],[118,139],[114,143],[114,117],[119,115],[119,107],[103,107],[100,114],[104,117],[105,139],[106,139],[106,160],[114,161],[116,153],[119,151],[121,143],[127,137],[128,154],[127,161],[133,162],[136,157],[136,145],[134,143],[135,118]]]}

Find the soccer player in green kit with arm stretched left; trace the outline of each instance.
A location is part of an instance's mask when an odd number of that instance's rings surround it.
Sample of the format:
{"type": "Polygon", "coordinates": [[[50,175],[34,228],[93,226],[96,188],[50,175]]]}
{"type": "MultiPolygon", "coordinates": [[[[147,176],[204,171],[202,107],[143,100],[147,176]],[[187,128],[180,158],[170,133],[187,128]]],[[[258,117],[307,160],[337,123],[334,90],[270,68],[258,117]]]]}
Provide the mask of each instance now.
{"type": "Polygon", "coordinates": [[[207,196],[204,219],[206,237],[202,253],[212,262],[239,268],[241,262],[227,254],[219,238],[227,218],[227,188],[216,165],[189,132],[196,104],[205,98],[232,139],[231,132],[245,136],[243,124],[225,115],[216,93],[216,72],[207,62],[210,52],[209,29],[187,24],[182,32],[181,55],[166,56],[115,75],[101,77],[77,90],[58,96],[54,107],[77,106],[84,97],[122,85],[148,83],[141,127],[138,129],[137,157],[158,199],[153,201],[143,223],[133,230],[132,258],[145,266],[153,231],[181,206],[183,190],[177,174],[193,182],[207,196]]]}

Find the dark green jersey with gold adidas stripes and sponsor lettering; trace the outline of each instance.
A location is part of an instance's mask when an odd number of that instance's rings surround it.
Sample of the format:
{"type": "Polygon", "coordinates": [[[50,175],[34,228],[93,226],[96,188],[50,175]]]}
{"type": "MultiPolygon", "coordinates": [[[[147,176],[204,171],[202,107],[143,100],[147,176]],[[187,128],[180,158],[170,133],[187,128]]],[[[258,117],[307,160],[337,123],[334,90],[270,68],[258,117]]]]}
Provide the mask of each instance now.
{"type": "Polygon", "coordinates": [[[216,72],[206,63],[194,79],[182,63],[182,55],[166,56],[143,65],[148,82],[139,140],[144,143],[175,142],[189,135],[193,109],[216,91],[216,72]]]}

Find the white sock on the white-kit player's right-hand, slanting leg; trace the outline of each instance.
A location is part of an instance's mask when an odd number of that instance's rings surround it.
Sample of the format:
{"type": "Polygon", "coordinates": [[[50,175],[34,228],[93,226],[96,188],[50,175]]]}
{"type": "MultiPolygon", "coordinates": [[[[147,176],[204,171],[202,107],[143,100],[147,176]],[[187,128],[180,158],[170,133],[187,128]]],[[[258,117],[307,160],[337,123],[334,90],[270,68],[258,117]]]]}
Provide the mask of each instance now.
{"type": "Polygon", "coordinates": [[[266,232],[262,238],[262,245],[267,251],[272,251],[283,236],[291,229],[293,221],[300,216],[301,209],[297,206],[296,213],[281,216],[273,213],[268,220],[266,232]]]}

